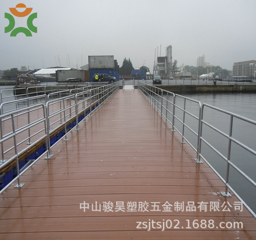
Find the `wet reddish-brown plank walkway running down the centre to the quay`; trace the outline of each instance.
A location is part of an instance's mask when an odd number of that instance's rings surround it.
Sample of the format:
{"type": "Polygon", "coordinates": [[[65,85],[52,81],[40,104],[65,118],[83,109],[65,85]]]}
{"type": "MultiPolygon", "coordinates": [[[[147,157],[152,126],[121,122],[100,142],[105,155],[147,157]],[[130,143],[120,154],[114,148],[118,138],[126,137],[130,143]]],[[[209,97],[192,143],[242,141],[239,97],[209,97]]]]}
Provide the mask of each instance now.
{"type": "Polygon", "coordinates": [[[256,239],[256,220],[138,89],[118,90],[79,128],[2,194],[0,239],[256,239]]]}

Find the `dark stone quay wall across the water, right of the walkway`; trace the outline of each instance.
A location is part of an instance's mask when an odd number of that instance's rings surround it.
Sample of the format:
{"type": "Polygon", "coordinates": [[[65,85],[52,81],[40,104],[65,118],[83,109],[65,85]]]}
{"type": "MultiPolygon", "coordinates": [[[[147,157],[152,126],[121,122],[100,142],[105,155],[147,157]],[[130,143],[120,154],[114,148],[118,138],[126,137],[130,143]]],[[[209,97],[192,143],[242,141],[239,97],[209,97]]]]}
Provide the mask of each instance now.
{"type": "Polygon", "coordinates": [[[176,94],[203,92],[256,92],[256,84],[193,84],[193,85],[154,85],[176,94]]]}

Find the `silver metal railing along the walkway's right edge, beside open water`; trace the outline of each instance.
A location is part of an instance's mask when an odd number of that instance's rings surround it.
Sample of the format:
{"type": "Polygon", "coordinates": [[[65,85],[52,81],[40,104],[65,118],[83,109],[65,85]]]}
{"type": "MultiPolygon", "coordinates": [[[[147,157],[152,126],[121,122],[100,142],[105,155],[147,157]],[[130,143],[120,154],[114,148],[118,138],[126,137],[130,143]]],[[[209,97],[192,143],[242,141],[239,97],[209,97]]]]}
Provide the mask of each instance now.
{"type": "Polygon", "coordinates": [[[239,194],[236,192],[236,190],[234,189],[234,187],[230,186],[229,184],[229,178],[230,178],[230,167],[232,167],[236,172],[238,172],[241,176],[243,176],[243,178],[250,184],[252,184],[252,186],[254,188],[256,188],[256,182],[254,180],[252,180],[245,172],[243,172],[239,167],[236,166],[236,164],[234,164],[231,160],[230,160],[230,154],[231,154],[231,143],[236,144],[242,148],[244,148],[246,151],[248,151],[250,154],[252,154],[253,156],[256,156],[256,151],[248,146],[246,146],[244,143],[240,142],[239,140],[235,139],[232,136],[232,130],[233,130],[233,119],[240,119],[244,122],[253,124],[253,126],[256,127],[256,121],[253,121],[251,119],[245,118],[243,116],[239,116],[237,114],[222,110],[220,108],[216,108],[213,107],[211,105],[208,104],[202,104],[199,101],[193,100],[193,99],[189,99],[187,97],[184,96],[180,96],[178,94],[174,94],[172,92],[168,92],[165,90],[162,90],[160,88],[157,88],[155,86],[152,85],[148,85],[148,84],[144,84],[139,82],[138,83],[138,88],[140,90],[140,92],[143,93],[143,95],[148,99],[148,101],[152,104],[152,106],[154,106],[154,108],[157,109],[157,112],[161,113],[161,117],[165,117],[165,123],[170,123],[172,124],[172,129],[171,131],[175,132],[175,130],[177,132],[180,133],[180,135],[182,136],[182,141],[180,141],[181,143],[184,143],[184,140],[187,140],[186,136],[184,136],[184,128],[187,128],[190,132],[192,132],[195,136],[196,136],[196,145],[193,146],[193,144],[191,142],[188,142],[188,144],[196,151],[196,158],[194,158],[194,160],[197,163],[203,163],[201,161],[201,159],[204,160],[205,163],[207,163],[210,168],[217,174],[217,176],[220,178],[220,180],[223,181],[223,183],[225,184],[225,191],[221,192],[221,194],[225,197],[231,196],[228,193],[228,189],[230,189],[233,194],[241,201],[243,202],[244,206],[247,208],[247,210],[252,214],[252,216],[256,219],[256,214],[255,212],[253,212],[253,210],[244,202],[244,200],[239,196],[239,194]],[[170,97],[171,96],[171,100],[170,97]],[[182,98],[183,101],[183,107],[178,106],[177,99],[178,98],[182,98]],[[192,113],[190,113],[187,109],[186,109],[186,102],[187,101],[192,101],[196,104],[198,104],[198,115],[194,115],[192,113]],[[172,105],[171,108],[168,107],[169,105],[172,105]],[[204,116],[204,109],[205,108],[210,108],[213,109],[219,113],[224,113],[228,116],[230,116],[230,124],[229,124],[229,134],[219,130],[218,128],[214,127],[212,124],[208,123],[207,121],[204,120],[203,116],[204,116]],[[163,109],[165,109],[163,111],[163,109]],[[172,109],[169,110],[169,109],[172,109]],[[183,118],[180,119],[178,116],[176,116],[175,110],[179,109],[183,112],[183,118]],[[171,118],[167,117],[167,115],[171,115],[171,118]],[[198,130],[194,131],[191,127],[189,127],[189,123],[185,123],[186,122],[186,118],[185,116],[191,116],[194,119],[196,119],[196,121],[198,122],[198,130]],[[176,127],[176,122],[175,120],[177,120],[178,122],[180,122],[182,124],[182,130],[178,130],[178,128],[176,127]],[[203,126],[205,127],[209,127],[212,130],[214,130],[215,132],[219,133],[221,136],[224,136],[225,138],[228,139],[228,149],[226,149],[228,151],[228,156],[224,156],[218,149],[214,148],[207,140],[205,140],[202,137],[202,133],[205,131],[203,130],[203,126]],[[202,154],[202,143],[206,144],[209,148],[211,148],[216,154],[218,154],[225,162],[226,162],[226,178],[224,179],[220,173],[209,163],[209,161],[207,161],[207,159],[203,156],[202,154]]]}

